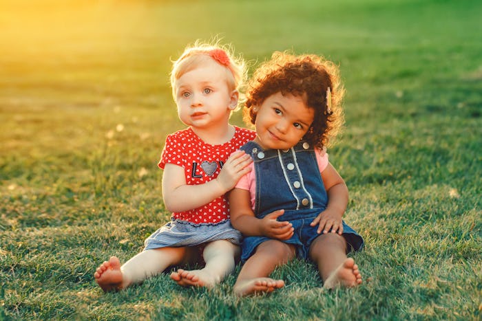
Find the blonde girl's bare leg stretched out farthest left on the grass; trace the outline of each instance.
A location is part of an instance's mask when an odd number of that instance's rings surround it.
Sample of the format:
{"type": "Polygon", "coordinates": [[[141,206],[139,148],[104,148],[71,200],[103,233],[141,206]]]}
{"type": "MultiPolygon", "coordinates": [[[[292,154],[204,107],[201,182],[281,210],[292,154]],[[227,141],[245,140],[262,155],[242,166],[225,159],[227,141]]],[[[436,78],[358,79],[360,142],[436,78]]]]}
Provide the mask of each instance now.
{"type": "Polygon", "coordinates": [[[179,264],[191,257],[193,249],[189,247],[162,247],[156,250],[140,252],[124,265],[116,256],[102,263],[94,273],[96,283],[103,291],[118,291],[134,283],[141,283],[146,278],[160,274],[169,265],[179,264]]]}

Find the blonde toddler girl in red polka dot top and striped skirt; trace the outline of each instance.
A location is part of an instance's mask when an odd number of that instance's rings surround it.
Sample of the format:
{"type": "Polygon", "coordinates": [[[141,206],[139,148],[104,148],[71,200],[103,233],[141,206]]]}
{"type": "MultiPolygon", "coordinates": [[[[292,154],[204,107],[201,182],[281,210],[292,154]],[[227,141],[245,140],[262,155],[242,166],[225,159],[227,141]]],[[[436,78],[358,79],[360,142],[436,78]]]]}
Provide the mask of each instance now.
{"type": "Polygon", "coordinates": [[[94,277],[104,291],[125,289],[171,265],[196,262],[200,252],[205,267],[172,272],[176,283],[213,287],[233,271],[241,234],[231,226],[224,193],[251,170],[249,155],[237,150],[255,137],[229,124],[245,75],[243,60],[219,45],[196,43],[174,61],[172,93],[188,127],[167,136],[158,164],[171,221],[123,265],[112,256],[96,269],[94,277]]]}

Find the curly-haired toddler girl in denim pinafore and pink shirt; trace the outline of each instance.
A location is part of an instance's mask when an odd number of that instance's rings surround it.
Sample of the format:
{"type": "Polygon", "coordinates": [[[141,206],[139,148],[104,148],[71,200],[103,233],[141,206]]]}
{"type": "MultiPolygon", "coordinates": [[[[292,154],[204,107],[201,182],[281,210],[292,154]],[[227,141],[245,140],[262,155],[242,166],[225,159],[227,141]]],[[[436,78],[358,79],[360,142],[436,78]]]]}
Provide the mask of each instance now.
{"type": "Polygon", "coordinates": [[[229,193],[231,223],[244,234],[234,292],[284,286],[269,274],[310,258],[324,287],[353,287],[362,275],[347,252],[363,239],[342,220],[348,188],[323,152],[343,123],[337,67],[315,55],[275,52],[253,74],[244,115],[256,137],[242,146],[252,170],[229,193]]]}

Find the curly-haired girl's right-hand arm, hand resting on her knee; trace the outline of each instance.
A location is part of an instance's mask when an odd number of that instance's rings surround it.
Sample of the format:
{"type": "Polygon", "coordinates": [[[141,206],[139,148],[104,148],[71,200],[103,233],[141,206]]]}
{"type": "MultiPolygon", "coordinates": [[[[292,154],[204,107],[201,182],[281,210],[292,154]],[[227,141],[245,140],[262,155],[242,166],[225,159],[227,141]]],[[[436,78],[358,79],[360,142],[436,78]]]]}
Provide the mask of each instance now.
{"type": "Polygon", "coordinates": [[[328,205],[311,222],[311,226],[319,224],[318,233],[328,233],[331,230],[333,233],[342,234],[342,217],[348,204],[348,188],[345,181],[330,163],[323,170],[322,179],[328,194],[328,205]]]}

